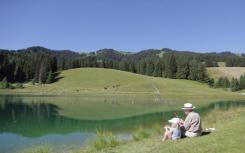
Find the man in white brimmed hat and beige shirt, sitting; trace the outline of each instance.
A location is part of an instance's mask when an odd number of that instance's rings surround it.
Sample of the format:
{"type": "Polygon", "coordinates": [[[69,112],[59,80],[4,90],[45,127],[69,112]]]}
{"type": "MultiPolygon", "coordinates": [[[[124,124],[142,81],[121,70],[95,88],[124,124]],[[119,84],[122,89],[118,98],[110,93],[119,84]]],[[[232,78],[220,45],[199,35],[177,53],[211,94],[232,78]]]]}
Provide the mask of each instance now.
{"type": "Polygon", "coordinates": [[[184,129],[184,135],[187,137],[196,137],[202,133],[202,123],[200,115],[193,112],[195,107],[191,103],[185,103],[182,108],[187,115],[185,121],[180,121],[180,126],[184,129]]]}

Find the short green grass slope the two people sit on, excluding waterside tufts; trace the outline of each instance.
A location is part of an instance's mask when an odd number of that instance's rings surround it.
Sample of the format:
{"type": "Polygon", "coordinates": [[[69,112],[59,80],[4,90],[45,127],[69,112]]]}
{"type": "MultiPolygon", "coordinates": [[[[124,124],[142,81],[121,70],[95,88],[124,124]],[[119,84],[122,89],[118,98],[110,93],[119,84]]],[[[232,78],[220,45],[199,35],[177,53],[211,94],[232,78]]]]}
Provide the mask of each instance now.
{"type": "MultiPolygon", "coordinates": [[[[215,110],[203,118],[203,127],[215,127],[216,131],[211,134],[197,137],[185,138],[178,141],[161,142],[161,137],[155,136],[122,143],[117,147],[106,148],[100,153],[208,153],[243,152],[245,141],[245,109],[238,108],[229,111],[215,110]]],[[[94,152],[89,151],[87,152],[94,152]]]]}

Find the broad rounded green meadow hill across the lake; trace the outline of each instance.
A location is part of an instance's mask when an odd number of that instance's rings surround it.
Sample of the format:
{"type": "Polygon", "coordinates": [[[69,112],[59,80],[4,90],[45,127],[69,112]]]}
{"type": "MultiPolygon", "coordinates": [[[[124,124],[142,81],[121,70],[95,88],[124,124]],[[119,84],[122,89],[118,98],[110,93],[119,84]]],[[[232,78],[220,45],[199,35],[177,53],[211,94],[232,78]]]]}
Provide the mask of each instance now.
{"type": "MultiPolygon", "coordinates": [[[[190,80],[149,77],[124,71],[101,68],[77,68],[61,71],[60,79],[50,85],[25,84],[11,93],[32,94],[144,94],[175,100],[210,100],[237,95],[207,84],[190,80]],[[221,96],[222,95],[222,96],[221,96]]],[[[238,96],[238,95],[237,95],[238,96]]]]}

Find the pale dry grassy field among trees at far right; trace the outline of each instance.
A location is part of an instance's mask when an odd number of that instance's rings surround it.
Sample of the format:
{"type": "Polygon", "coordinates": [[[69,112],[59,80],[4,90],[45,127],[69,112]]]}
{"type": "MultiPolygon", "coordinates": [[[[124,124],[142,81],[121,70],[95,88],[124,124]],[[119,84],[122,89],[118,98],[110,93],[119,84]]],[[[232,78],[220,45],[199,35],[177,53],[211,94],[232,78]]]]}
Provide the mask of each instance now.
{"type": "Polygon", "coordinates": [[[214,79],[218,79],[221,76],[228,78],[239,78],[240,75],[245,73],[245,67],[210,67],[208,68],[208,74],[214,79]]]}

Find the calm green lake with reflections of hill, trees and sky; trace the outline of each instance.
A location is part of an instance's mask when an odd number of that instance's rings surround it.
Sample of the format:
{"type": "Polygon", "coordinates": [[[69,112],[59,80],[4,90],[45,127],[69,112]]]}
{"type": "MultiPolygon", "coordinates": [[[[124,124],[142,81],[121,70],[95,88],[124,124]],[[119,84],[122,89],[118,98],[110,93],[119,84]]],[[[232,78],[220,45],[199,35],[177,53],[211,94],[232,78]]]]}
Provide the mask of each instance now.
{"type": "MultiPolygon", "coordinates": [[[[36,146],[55,150],[86,146],[96,131],[112,131],[120,139],[141,127],[162,124],[173,112],[183,117],[183,103],[161,97],[0,96],[0,153],[15,153],[36,146]]],[[[213,109],[245,106],[244,101],[213,102],[197,109],[205,115],[213,109]]]]}

